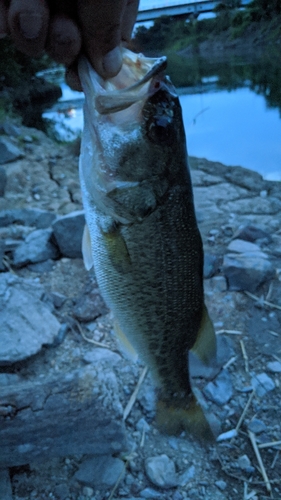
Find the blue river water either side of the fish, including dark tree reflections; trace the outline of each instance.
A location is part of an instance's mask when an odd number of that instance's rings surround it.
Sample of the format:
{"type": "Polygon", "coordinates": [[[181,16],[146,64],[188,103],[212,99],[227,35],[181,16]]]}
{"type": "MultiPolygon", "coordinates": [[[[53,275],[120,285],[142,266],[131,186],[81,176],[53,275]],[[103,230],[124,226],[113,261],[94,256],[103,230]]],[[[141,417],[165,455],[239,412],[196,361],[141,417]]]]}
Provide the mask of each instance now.
{"type": "MultiPolygon", "coordinates": [[[[197,61],[195,69],[183,71],[182,61],[180,70],[178,58],[169,70],[179,87],[189,154],[281,181],[281,71],[265,68],[264,61],[247,66],[241,58],[231,67],[197,61]]],[[[73,92],[59,75],[62,98],[43,116],[53,122],[57,138],[73,140],[83,127],[83,94],[73,92]]]]}

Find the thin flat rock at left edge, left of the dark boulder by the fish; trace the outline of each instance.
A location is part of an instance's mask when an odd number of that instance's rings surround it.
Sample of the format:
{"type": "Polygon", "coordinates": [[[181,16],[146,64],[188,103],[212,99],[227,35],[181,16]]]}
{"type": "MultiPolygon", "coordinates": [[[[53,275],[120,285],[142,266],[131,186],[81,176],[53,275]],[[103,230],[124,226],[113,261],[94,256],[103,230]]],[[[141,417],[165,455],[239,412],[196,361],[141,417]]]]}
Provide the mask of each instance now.
{"type": "Polygon", "coordinates": [[[51,226],[56,215],[47,210],[33,210],[27,208],[16,208],[14,210],[0,210],[0,227],[11,224],[21,224],[23,226],[46,229],[51,226]]]}

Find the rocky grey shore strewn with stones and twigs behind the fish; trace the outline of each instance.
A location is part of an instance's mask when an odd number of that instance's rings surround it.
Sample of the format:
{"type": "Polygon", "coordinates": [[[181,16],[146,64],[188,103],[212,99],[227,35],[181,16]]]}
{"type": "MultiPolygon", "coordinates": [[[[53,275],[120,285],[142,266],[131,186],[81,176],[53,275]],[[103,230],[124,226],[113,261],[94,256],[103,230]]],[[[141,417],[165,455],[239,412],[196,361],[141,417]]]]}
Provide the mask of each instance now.
{"type": "Polygon", "coordinates": [[[0,124],[3,498],[280,498],[280,182],[190,158],[218,339],[215,366],[191,358],[219,434],[203,445],[158,432],[149,374],[112,334],[81,259],[77,155],[36,129],[0,124]]]}

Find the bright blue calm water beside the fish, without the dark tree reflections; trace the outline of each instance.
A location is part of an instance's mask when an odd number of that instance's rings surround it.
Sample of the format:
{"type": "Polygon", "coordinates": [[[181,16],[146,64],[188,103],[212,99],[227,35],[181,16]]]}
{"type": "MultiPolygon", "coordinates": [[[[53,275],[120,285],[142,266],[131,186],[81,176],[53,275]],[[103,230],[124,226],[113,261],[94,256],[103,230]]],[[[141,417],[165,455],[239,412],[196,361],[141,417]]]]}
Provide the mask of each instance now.
{"type": "MultiPolygon", "coordinates": [[[[249,85],[227,91],[217,89],[215,81],[213,77],[211,85],[180,89],[189,154],[281,180],[280,111],[268,107],[249,85]]],[[[55,122],[57,137],[73,140],[83,127],[83,94],[61,86],[62,98],[43,116],[55,122]]]]}

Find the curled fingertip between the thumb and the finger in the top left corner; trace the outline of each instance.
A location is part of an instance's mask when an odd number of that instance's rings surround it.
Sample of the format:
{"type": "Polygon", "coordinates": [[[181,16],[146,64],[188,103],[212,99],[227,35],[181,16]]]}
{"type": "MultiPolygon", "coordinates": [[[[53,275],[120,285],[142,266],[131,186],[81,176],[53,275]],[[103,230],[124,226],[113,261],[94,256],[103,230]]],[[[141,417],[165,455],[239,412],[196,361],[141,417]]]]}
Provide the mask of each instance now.
{"type": "Polygon", "coordinates": [[[77,58],[82,45],[76,23],[65,15],[51,18],[47,52],[58,63],[69,66],[77,58]]]}

